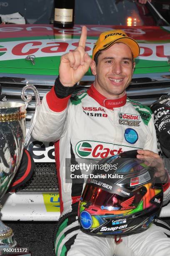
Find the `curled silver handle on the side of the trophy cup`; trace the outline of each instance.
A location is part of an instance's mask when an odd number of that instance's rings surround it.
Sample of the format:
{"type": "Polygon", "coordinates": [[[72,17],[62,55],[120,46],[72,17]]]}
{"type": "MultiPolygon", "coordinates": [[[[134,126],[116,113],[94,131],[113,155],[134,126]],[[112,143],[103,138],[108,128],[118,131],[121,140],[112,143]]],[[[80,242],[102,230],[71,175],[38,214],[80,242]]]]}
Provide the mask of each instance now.
{"type": "Polygon", "coordinates": [[[25,138],[24,146],[27,144],[27,141],[28,141],[28,139],[30,137],[30,134],[32,132],[32,128],[35,124],[35,119],[36,119],[36,116],[37,116],[37,109],[38,109],[38,106],[40,105],[40,95],[39,95],[39,92],[37,91],[36,87],[33,84],[29,84],[29,81],[27,81],[26,84],[27,85],[25,85],[22,89],[21,98],[25,102],[25,109],[26,109],[27,106],[28,106],[28,103],[32,100],[32,95],[29,94],[29,93],[25,94],[25,91],[27,89],[31,89],[34,92],[34,95],[35,95],[35,114],[34,114],[30,129],[29,129],[29,131],[27,133],[27,136],[25,138]]]}

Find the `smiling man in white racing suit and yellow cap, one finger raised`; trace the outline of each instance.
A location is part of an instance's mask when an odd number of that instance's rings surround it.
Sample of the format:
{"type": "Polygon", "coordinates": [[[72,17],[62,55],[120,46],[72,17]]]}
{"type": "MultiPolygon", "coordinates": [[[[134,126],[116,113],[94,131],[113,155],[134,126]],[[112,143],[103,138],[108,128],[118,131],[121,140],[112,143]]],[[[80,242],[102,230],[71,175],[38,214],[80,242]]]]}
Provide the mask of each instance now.
{"type": "MultiPolygon", "coordinates": [[[[138,149],[137,157],[159,158],[151,110],[127,98],[140,53],[136,41],[120,30],[100,35],[92,54],[85,53],[87,29],[82,28],[79,46],[61,57],[55,86],[43,98],[32,136],[55,142],[55,160],[60,190],[61,216],[55,240],[57,256],[163,256],[170,253],[170,227],[158,220],[143,233],[122,238],[97,237],[82,233],[77,206],[83,181],[70,179],[65,159],[101,159],[123,151],[138,149]],[[91,67],[95,83],[86,91],[75,92],[76,84],[91,67]],[[67,172],[67,173],[66,173],[67,172]]],[[[77,169],[75,174],[81,174],[77,169]]],[[[157,174],[165,184],[165,203],[169,200],[169,177],[164,167],[157,174]]]]}

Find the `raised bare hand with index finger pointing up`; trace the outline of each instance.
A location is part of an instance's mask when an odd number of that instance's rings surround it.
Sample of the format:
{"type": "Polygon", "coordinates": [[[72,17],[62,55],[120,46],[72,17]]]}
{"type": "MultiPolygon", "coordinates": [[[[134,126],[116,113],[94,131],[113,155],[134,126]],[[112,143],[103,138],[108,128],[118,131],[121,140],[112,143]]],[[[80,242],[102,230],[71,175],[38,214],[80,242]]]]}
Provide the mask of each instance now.
{"type": "Polygon", "coordinates": [[[72,87],[79,82],[90,67],[92,59],[85,52],[86,39],[87,28],[83,26],[78,47],[61,56],[59,75],[64,86],[72,87]]]}

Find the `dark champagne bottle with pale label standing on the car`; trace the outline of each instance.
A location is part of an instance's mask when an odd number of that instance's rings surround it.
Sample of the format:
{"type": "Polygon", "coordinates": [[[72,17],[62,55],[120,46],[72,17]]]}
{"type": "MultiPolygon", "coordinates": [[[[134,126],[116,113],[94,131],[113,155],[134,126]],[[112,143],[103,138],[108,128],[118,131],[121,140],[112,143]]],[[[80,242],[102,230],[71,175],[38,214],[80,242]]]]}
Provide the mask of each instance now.
{"type": "Polygon", "coordinates": [[[74,26],[75,0],[55,0],[54,27],[74,26]]]}

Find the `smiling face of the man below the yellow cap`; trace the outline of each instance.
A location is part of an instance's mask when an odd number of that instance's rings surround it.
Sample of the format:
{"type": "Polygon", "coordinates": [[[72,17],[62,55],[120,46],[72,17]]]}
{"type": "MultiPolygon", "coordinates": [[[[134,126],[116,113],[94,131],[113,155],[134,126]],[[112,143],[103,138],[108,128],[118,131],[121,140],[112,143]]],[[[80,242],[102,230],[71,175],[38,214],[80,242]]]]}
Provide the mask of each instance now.
{"type": "Polygon", "coordinates": [[[135,63],[130,47],[115,43],[102,51],[98,63],[92,61],[91,70],[95,75],[95,88],[109,99],[120,98],[131,82],[135,63]]]}

